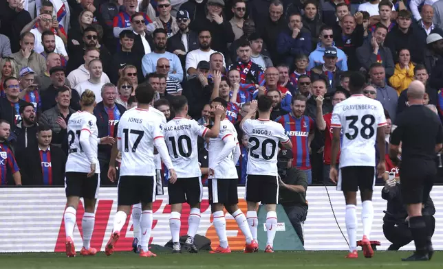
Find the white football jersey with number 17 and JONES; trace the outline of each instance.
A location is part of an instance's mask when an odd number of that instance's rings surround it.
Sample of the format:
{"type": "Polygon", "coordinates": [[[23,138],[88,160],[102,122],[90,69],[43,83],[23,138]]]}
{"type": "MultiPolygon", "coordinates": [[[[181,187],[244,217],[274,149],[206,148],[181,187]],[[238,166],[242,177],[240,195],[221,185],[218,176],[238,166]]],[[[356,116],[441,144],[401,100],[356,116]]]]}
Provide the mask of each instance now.
{"type": "Polygon", "coordinates": [[[117,131],[118,150],[122,152],[120,176],[155,176],[154,140],[164,139],[163,125],[154,108],[123,113],[117,131]]]}

